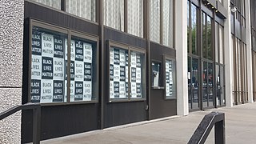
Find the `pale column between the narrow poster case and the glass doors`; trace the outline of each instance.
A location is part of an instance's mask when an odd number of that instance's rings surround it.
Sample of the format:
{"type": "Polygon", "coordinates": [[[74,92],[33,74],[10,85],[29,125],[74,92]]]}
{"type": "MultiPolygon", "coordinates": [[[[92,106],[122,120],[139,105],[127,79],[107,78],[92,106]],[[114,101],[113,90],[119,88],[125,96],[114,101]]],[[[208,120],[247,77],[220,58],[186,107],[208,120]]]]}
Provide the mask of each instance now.
{"type": "Polygon", "coordinates": [[[188,87],[187,87],[187,1],[176,0],[175,2],[175,44],[177,62],[177,114],[189,114],[188,87]]]}

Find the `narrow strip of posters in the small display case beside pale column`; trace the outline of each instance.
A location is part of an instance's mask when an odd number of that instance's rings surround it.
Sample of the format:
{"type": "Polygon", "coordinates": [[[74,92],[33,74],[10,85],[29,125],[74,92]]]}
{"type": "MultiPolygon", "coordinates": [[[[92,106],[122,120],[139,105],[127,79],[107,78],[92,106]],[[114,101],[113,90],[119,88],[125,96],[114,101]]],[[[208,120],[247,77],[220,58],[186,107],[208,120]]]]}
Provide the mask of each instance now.
{"type": "Polygon", "coordinates": [[[174,62],[166,59],[166,97],[174,97],[174,62]]]}

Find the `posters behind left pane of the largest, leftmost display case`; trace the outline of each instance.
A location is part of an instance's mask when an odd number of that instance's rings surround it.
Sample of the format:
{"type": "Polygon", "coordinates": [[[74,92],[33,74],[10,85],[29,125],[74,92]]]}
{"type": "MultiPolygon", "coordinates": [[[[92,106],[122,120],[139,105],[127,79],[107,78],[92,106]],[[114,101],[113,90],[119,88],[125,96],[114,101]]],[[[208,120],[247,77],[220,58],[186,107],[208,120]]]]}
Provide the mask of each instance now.
{"type": "Polygon", "coordinates": [[[31,39],[31,102],[64,101],[64,38],[33,26],[31,39]]]}

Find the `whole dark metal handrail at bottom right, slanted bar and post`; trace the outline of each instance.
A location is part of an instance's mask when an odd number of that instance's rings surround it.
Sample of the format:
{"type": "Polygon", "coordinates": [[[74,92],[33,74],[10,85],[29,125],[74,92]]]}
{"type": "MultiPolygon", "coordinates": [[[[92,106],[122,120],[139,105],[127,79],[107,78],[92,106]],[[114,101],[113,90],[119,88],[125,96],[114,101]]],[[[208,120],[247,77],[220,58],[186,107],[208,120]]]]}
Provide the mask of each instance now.
{"type": "Polygon", "coordinates": [[[206,142],[206,138],[210,134],[214,126],[215,144],[225,144],[225,114],[218,112],[211,112],[206,114],[200,122],[197,130],[190,138],[188,144],[202,144],[206,142]]]}

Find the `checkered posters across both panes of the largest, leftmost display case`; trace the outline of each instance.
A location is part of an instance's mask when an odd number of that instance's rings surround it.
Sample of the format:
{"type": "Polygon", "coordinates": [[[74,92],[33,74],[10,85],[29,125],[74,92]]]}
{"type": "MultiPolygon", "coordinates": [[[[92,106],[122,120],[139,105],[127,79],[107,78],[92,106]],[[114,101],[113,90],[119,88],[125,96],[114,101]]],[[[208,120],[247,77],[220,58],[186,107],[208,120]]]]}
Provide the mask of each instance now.
{"type": "MultiPolygon", "coordinates": [[[[66,102],[68,48],[70,48],[70,102],[91,101],[92,60],[90,43],[65,34],[33,27],[31,102],[66,102]]],[[[118,76],[119,77],[119,76],[118,76]]]]}

